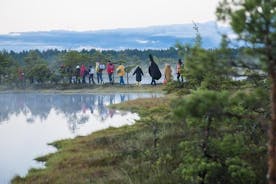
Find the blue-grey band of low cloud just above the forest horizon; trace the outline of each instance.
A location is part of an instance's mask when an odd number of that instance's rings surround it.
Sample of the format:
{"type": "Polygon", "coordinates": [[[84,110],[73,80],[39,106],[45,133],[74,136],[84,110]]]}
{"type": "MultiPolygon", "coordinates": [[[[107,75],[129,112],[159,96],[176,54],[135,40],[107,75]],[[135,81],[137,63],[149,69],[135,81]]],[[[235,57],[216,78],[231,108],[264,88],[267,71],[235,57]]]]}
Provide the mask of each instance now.
{"type": "MultiPolygon", "coordinates": [[[[215,22],[199,23],[198,27],[204,48],[218,47],[221,33],[232,34],[229,27],[217,26],[215,22]]],[[[176,42],[193,43],[194,37],[193,24],[83,32],[20,32],[0,35],[0,50],[164,49],[174,46],[176,42]]]]}

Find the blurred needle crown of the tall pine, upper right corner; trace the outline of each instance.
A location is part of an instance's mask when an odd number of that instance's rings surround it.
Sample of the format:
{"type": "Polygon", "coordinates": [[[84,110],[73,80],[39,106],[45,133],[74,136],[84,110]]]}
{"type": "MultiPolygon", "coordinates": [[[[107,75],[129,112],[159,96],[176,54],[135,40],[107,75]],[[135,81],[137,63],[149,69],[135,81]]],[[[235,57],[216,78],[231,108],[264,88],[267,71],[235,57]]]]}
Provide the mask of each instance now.
{"type": "Polygon", "coordinates": [[[239,39],[256,46],[262,62],[270,65],[275,60],[276,52],[276,2],[242,0],[223,0],[217,7],[217,17],[229,22],[239,39]],[[263,57],[263,56],[264,57],[263,57]]]}

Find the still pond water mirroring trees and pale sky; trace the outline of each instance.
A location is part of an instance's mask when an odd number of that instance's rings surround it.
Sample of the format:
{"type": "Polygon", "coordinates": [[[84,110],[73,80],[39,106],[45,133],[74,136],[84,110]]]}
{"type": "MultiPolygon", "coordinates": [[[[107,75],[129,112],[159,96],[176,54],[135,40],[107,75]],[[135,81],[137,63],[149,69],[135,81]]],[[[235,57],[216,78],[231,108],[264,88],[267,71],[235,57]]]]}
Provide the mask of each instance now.
{"type": "Polygon", "coordinates": [[[0,94],[0,183],[43,167],[34,158],[54,152],[56,140],[130,125],[138,115],[106,105],[157,94],[0,94]]]}

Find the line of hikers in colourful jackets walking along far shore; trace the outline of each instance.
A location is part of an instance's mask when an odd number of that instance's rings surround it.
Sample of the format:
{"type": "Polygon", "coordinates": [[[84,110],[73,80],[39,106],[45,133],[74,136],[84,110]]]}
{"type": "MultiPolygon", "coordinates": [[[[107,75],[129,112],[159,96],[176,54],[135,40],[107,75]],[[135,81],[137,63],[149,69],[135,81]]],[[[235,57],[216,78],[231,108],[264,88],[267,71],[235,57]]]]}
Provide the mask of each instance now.
{"type": "MultiPolygon", "coordinates": [[[[153,60],[152,55],[149,55],[150,59],[150,65],[149,65],[149,75],[152,78],[151,85],[156,85],[156,80],[159,80],[162,77],[162,74],[160,72],[160,69],[158,65],[153,60]]],[[[181,67],[182,67],[182,61],[181,59],[178,60],[177,63],[177,80],[183,82],[183,77],[181,76],[181,67]]],[[[124,75],[126,73],[124,65],[121,63],[117,68],[115,68],[115,65],[109,60],[107,64],[103,64],[100,62],[96,62],[95,68],[93,66],[89,66],[89,68],[86,68],[84,64],[81,66],[76,66],[75,76],[73,78],[73,83],[86,83],[86,78],[88,75],[88,81],[89,84],[95,84],[94,81],[94,75],[96,74],[97,82],[98,84],[103,84],[103,71],[106,70],[108,74],[108,80],[110,84],[114,84],[114,72],[116,71],[117,75],[120,78],[120,85],[124,85],[124,75]]],[[[140,66],[137,66],[136,69],[133,72],[133,75],[136,76],[136,82],[137,85],[141,85],[142,77],[144,75],[143,70],[140,66]]],[[[172,80],[172,69],[169,64],[165,65],[165,71],[164,71],[164,84],[172,80]]]]}

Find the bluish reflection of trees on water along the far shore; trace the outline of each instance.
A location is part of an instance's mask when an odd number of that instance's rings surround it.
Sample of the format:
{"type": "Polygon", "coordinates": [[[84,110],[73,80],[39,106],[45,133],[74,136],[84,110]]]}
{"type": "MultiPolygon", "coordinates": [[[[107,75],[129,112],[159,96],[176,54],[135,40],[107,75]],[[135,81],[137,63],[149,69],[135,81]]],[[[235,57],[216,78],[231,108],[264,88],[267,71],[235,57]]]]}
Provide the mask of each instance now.
{"type": "Polygon", "coordinates": [[[112,117],[115,111],[105,104],[114,104],[133,99],[130,94],[0,94],[0,124],[8,121],[11,115],[23,113],[27,122],[39,118],[44,120],[52,109],[64,114],[72,132],[79,124],[87,123],[89,115],[98,116],[99,120],[112,117]],[[116,100],[117,99],[117,100],[116,100]]]}

